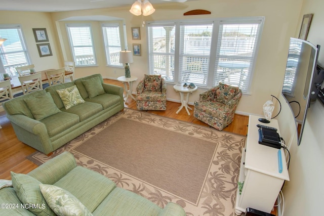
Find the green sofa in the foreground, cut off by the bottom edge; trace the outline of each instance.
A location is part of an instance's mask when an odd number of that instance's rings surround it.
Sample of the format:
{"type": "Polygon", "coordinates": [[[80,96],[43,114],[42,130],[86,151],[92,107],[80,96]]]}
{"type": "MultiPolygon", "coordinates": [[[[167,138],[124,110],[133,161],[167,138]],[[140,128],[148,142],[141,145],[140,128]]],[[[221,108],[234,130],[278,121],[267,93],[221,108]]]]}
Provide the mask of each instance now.
{"type": "Polygon", "coordinates": [[[93,215],[186,215],[183,208],[176,203],[170,202],[161,208],[138,194],[116,187],[114,182],[99,173],[77,166],[73,155],[69,152],[63,152],[26,176],[20,174],[20,178],[15,179],[21,185],[14,184],[13,180],[14,187],[0,189],[0,203],[15,204],[15,207],[2,206],[0,215],[53,215],[39,191],[39,184],[55,185],[68,191],[93,215]],[[28,183],[23,182],[27,178],[28,183]],[[32,187],[34,182],[36,186],[32,187]],[[15,185],[24,188],[23,195],[15,185]],[[28,199],[23,204],[29,201],[34,207],[29,209],[21,207],[20,199],[23,199],[21,196],[28,199]],[[47,210],[51,213],[44,214],[47,210]]]}

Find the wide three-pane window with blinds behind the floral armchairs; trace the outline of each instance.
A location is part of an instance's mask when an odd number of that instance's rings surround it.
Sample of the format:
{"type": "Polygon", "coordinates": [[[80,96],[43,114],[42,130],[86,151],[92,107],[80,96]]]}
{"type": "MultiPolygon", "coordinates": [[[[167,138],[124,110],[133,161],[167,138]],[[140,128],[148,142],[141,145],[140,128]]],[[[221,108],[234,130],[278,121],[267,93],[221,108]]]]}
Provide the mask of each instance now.
{"type": "Polygon", "coordinates": [[[262,23],[263,18],[148,23],[150,74],[203,88],[221,81],[249,93],[262,23]]]}

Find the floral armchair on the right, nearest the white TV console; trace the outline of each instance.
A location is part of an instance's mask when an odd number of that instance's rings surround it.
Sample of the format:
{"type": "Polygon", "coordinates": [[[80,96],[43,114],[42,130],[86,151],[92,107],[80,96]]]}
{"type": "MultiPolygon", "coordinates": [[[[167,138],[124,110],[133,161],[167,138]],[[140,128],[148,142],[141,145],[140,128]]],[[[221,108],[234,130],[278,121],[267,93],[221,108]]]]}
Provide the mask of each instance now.
{"type": "Polygon", "coordinates": [[[222,131],[234,119],[237,104],[242,96],[238,87],[219,83],[199,95],[194,102],[193,115],[200,121],[222,131]]]}

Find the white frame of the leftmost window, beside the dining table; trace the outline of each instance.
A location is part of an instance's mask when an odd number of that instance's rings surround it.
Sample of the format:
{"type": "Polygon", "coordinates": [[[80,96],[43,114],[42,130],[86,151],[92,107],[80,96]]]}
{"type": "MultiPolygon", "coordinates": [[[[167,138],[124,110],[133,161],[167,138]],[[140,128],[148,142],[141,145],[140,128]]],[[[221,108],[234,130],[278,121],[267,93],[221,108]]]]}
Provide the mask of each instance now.
{"type": "MultiPolygon", "coordinates": [[[[12,54],[12,53],[21,53],[22,52],[25,56],[26,61],[21,62],[20,64],[12,64],[12,65],[5,66],[4,62],[0,58],[0,73],[9,73],[9,74],[11,74],[11,76],[19,76],[18,72],[15,69],[16,67],[32,64],[31,60],[30,60],[29,52],[27,49],[26,40],[24,38],[22,26],[21,25],[0,25],[0,28],[1,29],[19,29],[18,33],[19,33],[19,38],[20,38],[20,42],[22,45],[22,50],[10,52],[10,53],[12,54]]],[[[0,36],[5,37],[4,35],[0,35],[0,36]]],[[[6,38],[6,39],[10,39],[10,38],[6,38]]],[[[6,55],[6,52],[4,52],[4,53],[2,52],[3,46],[4,45],[2,45],[0,47],[0,55],[1,56],[6,55]]]]}

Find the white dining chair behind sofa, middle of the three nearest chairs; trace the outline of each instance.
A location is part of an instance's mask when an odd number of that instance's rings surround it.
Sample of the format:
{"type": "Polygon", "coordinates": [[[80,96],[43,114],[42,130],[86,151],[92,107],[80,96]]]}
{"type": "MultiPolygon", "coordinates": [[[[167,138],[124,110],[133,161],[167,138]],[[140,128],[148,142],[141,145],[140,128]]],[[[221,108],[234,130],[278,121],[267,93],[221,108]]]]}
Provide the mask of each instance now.
{"type": "Polygon", "coordinates": [[[42,72],[18,76],[18,79],[21,83],[21,88],[24,95],[37,90],[43,90],[42,72]]]}

